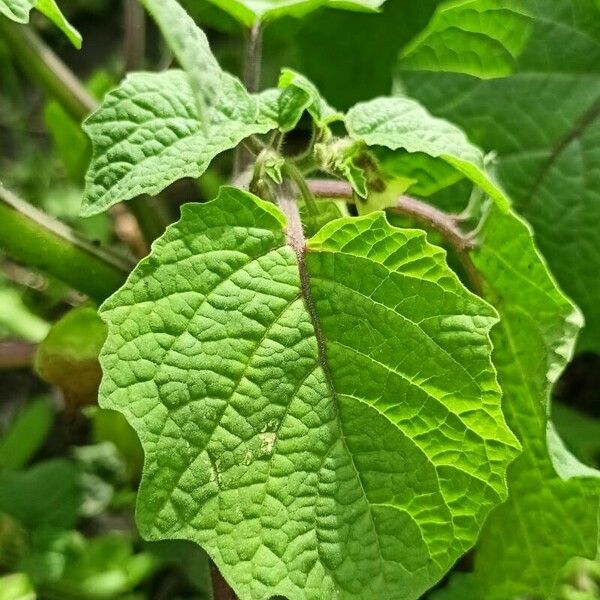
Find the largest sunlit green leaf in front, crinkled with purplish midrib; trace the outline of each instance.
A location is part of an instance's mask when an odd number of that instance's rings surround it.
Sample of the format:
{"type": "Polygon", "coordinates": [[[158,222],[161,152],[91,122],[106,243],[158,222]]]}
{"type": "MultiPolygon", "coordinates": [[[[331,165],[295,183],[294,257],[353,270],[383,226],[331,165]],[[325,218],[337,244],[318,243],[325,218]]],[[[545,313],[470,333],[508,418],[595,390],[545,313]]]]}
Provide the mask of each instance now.
{"type": "Polygon", "coordinates": [[[444,257],[383,213],[305,245],[241,190],[185,205],[100,310],[100,404],[146,455],[142,535],[201,544],[243,598],[436,582],[506,497],[518,449],[495,311],[444,257]]]}

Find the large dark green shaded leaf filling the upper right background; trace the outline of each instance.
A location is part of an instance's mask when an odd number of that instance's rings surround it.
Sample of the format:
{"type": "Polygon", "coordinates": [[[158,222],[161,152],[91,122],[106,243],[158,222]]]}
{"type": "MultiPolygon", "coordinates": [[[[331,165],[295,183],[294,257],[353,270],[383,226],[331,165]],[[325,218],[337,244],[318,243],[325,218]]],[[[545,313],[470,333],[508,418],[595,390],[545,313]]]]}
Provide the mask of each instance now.
{"type": "MultiPolygon", "coordinates": [[[[460,4],[475,10],[488,2],[460,4]]],[[[600,10],[593,0],[522,0],[518,7],[530,15],[530,31],[514,53],[512,76],[465,74],[472,71],[455,60],[452,47],[444,53],[438,44],[429,64],[419,61],[423,72],[401,74],[402,92],[497,152],[500,182],[583,309],[580,348],[599,351],[600,10]]],[[[449,3],[446,14],[454,10],[461,8],[449,3]]],[[[478,74],[493,75],[493,61],[480,58],[478,74]]]]}

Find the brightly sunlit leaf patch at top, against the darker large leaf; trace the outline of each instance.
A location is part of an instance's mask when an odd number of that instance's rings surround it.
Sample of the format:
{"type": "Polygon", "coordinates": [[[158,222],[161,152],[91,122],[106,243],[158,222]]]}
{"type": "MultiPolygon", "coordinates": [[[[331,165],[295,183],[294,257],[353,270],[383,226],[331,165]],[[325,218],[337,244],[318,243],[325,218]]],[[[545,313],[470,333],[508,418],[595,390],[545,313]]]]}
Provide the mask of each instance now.
{"type": "Polygon", "coordinates": [[[513,72],[532,31],[525,0],[446,2],[401,53],[400,67],[482,78],[513,72]]]}

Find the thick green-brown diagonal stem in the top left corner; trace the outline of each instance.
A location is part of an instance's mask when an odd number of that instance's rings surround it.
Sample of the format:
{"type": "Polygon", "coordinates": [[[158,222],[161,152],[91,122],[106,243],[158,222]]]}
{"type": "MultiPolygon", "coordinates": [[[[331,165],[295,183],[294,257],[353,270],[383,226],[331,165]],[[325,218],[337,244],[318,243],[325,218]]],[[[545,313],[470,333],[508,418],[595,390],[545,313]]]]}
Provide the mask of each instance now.
{"type": "Polygon", "coordinates": [[[35,32],[8,19],[0,19],[0,32],[9,42],[15,60],[78,122],[96,108],[96,100],[69,68],[35,32]]]}

